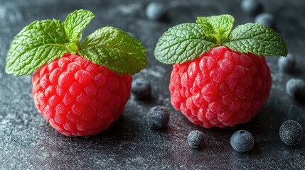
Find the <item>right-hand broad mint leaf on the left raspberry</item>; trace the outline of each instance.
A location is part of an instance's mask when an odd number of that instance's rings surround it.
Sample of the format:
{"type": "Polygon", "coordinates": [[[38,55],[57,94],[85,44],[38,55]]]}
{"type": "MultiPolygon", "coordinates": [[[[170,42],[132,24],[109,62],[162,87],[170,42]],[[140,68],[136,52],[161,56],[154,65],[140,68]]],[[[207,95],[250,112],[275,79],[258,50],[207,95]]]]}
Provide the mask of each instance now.
{"type": "Polygon", "coordinates": [[[78,53],[118,74],[135,74],[147,65],[146,49],[141,42],[109,26],[89,35],[78,53]]]}

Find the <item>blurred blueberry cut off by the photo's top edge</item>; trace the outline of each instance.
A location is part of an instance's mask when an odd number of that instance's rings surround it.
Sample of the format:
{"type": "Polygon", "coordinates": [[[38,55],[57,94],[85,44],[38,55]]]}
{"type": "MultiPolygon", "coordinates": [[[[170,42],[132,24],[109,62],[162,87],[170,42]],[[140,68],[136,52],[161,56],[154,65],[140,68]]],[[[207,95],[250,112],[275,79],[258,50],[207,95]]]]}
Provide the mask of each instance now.
{"type": "Polygon", "coordinates": [[[243,0],[240,4],[242,11],[251,16],[256,16],[263,10],[262,4],[257,0],[243,0]]]}

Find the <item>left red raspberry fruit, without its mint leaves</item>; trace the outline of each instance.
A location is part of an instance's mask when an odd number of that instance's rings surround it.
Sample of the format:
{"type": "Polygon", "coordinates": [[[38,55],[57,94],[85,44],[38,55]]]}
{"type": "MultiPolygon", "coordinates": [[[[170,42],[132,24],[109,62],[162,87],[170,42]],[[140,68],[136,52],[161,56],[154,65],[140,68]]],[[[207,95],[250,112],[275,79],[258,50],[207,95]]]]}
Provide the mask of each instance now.
{"type": "Polygon", "coordinates": [[[67,136],[95,135],[119,118],[132,76],[119,75],[79,55],[66,54],[33,75],[38,111],[67,136]]]}

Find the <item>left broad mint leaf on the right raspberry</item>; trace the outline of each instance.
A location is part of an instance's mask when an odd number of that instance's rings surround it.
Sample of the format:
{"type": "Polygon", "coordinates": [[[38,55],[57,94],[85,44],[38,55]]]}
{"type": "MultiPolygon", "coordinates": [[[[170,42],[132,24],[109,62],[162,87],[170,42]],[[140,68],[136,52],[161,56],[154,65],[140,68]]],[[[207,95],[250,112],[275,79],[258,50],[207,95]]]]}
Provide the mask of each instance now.
{"type": "Polygon", "coordinates": [[[156,44],[156,60],[165,64],[180,64],[208,52],[216,44],[203,35],[202,30],[203,27],[196,23],[182,23],[169,28],[156,44]]]}

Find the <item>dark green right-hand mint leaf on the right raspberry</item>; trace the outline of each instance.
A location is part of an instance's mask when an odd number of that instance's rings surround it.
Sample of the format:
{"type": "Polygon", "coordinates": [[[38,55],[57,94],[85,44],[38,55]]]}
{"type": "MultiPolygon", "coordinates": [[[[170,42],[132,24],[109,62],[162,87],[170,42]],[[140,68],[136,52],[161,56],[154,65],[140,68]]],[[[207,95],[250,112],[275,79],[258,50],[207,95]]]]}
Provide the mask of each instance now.
{"type": "Polygon", "coordinates": [[[272,28],[260,23],[246,23],[237,26],[229,36],[228,42],[223,45],[230,49],[255,55],[282,55],[287,56],[287,45],[281,35],[272,28]]]}

